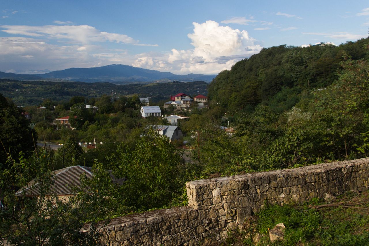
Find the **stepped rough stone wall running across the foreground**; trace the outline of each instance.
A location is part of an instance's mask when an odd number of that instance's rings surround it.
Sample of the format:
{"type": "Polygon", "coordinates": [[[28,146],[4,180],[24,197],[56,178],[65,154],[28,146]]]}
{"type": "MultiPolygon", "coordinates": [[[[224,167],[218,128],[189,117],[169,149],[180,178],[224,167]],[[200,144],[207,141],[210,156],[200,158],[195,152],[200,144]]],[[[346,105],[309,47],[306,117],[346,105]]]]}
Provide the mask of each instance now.
{"type": "Polygon", "coordinates": [[[196,245],[242,229],[266,201],[283,204],[369,188],[369,158],[249,173],[186,184],[188,207],[113,219],[100,229],[107,245],[196,245]]]}

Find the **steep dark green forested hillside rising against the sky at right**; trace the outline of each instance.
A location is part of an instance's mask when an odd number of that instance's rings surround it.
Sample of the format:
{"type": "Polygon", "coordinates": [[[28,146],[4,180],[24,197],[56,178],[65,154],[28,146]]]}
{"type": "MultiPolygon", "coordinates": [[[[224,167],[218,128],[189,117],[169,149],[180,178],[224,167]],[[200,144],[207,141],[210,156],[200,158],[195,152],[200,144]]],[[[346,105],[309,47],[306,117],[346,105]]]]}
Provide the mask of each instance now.
{"type": "Polygon", "coordinates": [[[252,111],[263,103],[282,112],[300,100],[304,91],[323,89],[334,82],[347,58],[368,59],[369,38],[339,46],[301,48],[280,45],[264,48],[224,70],[208,88],[213,103],[227,110],[252,111]],[[346,57],[346,58],[345,58],[346,57]]]}

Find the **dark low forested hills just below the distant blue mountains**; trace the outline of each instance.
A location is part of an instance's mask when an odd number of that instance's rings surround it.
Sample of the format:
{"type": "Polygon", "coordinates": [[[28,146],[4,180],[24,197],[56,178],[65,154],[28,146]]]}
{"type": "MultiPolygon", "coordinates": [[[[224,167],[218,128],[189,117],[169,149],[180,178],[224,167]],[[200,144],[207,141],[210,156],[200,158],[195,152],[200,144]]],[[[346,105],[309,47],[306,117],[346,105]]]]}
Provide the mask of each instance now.
{"type": "Polygon", "coordinates": [[[135,83],[117,85],[112,83],[46,82],[0,79],[0,94],[11,98],[18,105],[39,105],[45,99],[69,101],[74,96],[87,98],[109,94],[113,98],[138,94],[151,101],[168,100],[171,95],[183,92],[189,95],[207,94],[207,83],[193,81],[182,83],[135,83]]]}

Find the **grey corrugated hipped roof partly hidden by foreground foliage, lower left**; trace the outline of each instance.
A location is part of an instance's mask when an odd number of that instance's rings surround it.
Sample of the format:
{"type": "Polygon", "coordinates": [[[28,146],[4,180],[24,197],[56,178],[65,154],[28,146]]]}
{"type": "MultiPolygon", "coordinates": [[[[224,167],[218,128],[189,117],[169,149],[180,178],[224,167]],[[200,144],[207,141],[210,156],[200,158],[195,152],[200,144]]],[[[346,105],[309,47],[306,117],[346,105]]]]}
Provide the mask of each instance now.
{"type": "MultiPolygon", "coordinates": [[[[82,188],[80,176],[81,174],[86,174],[87,179],[92,179],[94,174],[91,172],[91,167],[82,167],[82,166],[70,166],[63,169],[52,171],[52,181],[54,184],[49,187],[46,193],[48,194],[56,194],[56,195],[70,195],[73,194],[73,188],[82,188]]],[[[111,170],[109,171],[109,175],[113,180],[113,183],[116,184],[123,184],[124,178],[116,179],[111,170]]],[[[84,187],[83,189],[85,192],[91,192],[91,187],[84,187]]],[[[32,180],[28,183],[27,186],[21,188],[20,190],[15,193],[16,195],[39,195],[40,194],[40,187],[39,183],[35,183],[32,180]]]]}

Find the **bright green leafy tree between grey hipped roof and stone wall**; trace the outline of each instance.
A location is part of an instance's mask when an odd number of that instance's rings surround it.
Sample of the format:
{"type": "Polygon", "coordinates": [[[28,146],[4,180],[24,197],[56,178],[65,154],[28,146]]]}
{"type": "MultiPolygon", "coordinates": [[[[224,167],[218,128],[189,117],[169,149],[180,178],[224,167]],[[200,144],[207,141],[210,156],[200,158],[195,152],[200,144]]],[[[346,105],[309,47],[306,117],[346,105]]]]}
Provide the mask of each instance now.
{"type": "Polygon", "coordinates": [[[182,194],[183,160],[166,136],[150,128],[141,138],[118,146],[111,159],[115,174],[126,180],[120,190],[123,202],[136,209],[158,208],[182,194]]]}

